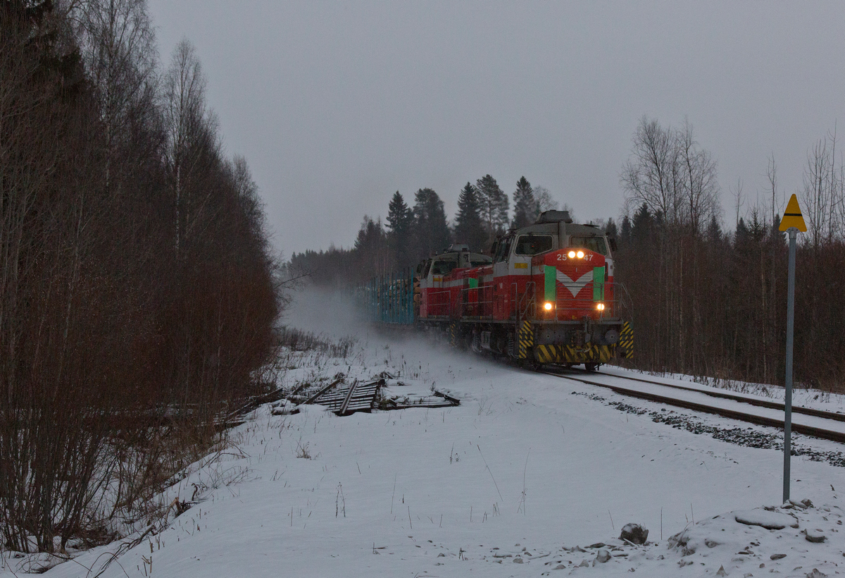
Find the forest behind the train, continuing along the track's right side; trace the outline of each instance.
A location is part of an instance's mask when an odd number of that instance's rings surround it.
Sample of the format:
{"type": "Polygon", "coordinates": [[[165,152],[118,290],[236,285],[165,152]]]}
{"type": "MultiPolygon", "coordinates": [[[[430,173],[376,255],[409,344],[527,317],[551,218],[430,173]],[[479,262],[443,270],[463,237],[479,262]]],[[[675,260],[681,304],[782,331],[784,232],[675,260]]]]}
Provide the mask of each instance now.
{"type": "MultiPolygon", "coordinates": [[[[845,349],[845,169],[836,148],[831,134],[810,149],[804,186],[796,191],[809,229],[799,234],[794,366],[799,383],[842,390],[845,360],[837,352],[845,349]]],[[[617,238],[617,279],[634,304],[633,364],[783,383],[787,245],[778,231],[783,191],[777,165],[771,157],[766,201],[743,216],[742,184],[732,191],[733,230],[722,225],[717,176],[716,162],[690,124],[675,128],[641,119],[620,171],[623,217],[597,221],[617,238]]],[[[414,267],[451,242],[485,251],[505,228],[557,208],[548,190],[537,189],[525,177],[517,182],[509,218],[508,196],[485,175],[460,191],[451,224],[433,190],[418,190],[411,207],[396,192],[386,223],[364,217],[351,249],[305,251],[294,254],[291,265],[316,283],[358,283],[414,267]]]]}

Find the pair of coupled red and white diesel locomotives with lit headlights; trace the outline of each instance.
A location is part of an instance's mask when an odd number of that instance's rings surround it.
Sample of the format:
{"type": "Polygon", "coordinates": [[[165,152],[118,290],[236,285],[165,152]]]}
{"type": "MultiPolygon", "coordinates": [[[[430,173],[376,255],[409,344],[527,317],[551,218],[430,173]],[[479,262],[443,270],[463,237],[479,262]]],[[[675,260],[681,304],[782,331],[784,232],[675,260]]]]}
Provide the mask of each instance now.
{"type": "Polygon", "coordinates": [[[414,317],[454,344],[529,364],[595,370],[634,354],[630,300],[601,229],[547,211],[500,237],[491,255],[452,245],[417,267],[414,317]]]}

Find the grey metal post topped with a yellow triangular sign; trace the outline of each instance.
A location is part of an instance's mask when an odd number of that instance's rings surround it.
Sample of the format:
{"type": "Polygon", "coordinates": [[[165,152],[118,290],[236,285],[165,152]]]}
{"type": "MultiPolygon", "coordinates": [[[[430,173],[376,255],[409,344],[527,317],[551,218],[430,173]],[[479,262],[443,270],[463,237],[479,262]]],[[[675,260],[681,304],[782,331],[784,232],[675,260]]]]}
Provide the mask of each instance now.
{"type": "Polygon", "coordinates": [[[798,197],[792,195],[787,203],[787,210],[781,219],[781,231],[789,235],[789,273],[787,289],[787,375],[786,392],[783,399],[783,501],[789,500],[789,457],[792,453],[792,357],[793,357],[793,328],[795,326],[795,239],[798,232],[806,232],[807,225],[801,215],[798,197]]]}

